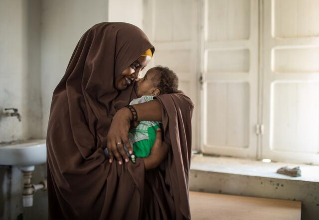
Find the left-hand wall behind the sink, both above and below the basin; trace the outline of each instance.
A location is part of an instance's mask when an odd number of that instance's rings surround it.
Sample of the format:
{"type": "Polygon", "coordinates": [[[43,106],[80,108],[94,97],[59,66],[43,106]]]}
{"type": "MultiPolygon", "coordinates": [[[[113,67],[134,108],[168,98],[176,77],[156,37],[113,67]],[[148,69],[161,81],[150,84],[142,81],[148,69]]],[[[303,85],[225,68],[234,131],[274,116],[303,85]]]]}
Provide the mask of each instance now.
{"type": "MultiPolygon", "coordinates": [[[[41,136],[39,2],[0,1],[0,143],[41,136]],[[21,122],[3,114],[8,107],[18,109],[21,122]]],[[[0,219],[21,218],[21,180],[18,169],[0,166],[0,219]]]]}

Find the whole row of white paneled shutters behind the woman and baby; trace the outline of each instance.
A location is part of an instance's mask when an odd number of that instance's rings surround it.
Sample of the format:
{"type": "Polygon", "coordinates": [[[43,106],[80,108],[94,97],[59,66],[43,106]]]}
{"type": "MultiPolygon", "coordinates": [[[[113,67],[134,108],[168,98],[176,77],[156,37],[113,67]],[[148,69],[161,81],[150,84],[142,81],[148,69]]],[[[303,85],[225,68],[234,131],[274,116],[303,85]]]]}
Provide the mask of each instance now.
{"type": "Polygon", "coordinates": [[[152,64],[195,104],[193,149],[319,163],[319,0],[145,0],[152,64]]]}

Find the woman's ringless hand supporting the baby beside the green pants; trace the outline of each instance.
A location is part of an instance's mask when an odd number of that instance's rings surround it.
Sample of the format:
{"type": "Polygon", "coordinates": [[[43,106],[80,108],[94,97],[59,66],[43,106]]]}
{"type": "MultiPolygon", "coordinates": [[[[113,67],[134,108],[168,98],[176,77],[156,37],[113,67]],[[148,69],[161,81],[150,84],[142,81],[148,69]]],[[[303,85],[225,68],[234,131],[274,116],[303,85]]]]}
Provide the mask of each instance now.
{"type": "Polygon", "coordinates": [[[144,157],[144,166],[146,170],[158,167],[164,159],[167,158],[168,146],[161,140],[161,130],[156,131],[156,140],[148,157],[144,157]]]}

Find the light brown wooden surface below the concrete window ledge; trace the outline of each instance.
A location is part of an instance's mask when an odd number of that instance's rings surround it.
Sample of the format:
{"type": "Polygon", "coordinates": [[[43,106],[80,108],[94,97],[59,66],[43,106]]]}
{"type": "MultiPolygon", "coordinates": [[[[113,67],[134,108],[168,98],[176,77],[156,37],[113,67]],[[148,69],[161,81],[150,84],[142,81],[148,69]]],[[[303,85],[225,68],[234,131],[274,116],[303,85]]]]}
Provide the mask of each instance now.
{"type": "Polygon", "coordinates": [[[189,192],[192,220],[300,220],[301,202],[189,192]]]}

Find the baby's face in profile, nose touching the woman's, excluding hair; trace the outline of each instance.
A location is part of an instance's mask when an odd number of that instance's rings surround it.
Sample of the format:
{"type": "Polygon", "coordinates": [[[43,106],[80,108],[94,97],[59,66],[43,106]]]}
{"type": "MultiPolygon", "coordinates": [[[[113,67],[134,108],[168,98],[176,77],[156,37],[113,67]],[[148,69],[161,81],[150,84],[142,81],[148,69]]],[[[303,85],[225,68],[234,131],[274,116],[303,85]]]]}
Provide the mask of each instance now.
{"type": "Polygon", "coordinates": [[[150,69],[143,78],[136,82],[136,92],[138,97],[143,95],[159,95],[160,90],[154,87],[154,76],[157,71],[150,69]]]}

